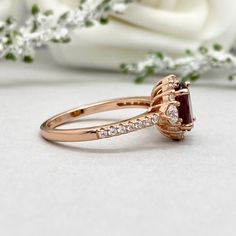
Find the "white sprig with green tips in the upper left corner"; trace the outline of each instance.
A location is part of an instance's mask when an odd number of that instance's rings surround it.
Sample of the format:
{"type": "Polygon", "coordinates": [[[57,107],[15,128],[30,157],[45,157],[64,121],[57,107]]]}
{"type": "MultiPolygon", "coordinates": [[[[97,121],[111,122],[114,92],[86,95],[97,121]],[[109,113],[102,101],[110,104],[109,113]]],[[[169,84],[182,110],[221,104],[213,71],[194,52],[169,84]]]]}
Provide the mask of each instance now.
{"type": "Polygon", "coordinates": [[[0,21],[0,59],[33,62],[35,49],[53,43],[68,43],[70,32],[94,25],[106,24],[112,13],[123,13],[135,0],[83,0],[80,7],[56,16],[53,11],[41,12],[33,5],[31,16],[24,26],[9,17],[0,21]]]}

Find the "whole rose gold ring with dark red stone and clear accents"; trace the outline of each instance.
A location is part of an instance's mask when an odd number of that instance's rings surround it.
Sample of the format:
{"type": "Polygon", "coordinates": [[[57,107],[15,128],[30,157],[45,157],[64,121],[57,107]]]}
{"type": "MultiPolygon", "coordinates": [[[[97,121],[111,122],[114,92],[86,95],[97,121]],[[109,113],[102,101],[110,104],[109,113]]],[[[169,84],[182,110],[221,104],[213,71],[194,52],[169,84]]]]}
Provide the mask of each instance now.
{"type": "Polygon", "coordinates": [[[174,75],[167,76],[154,86],[150,97],[118,98],[63,112],[41,125],[41,135],[55,142],[80,142],[111,138],[156,126],[168,138],[182,140],[195,121],[189,85],[189,82],[180,82],[174,75]],[[146,111],[130,119],[102,126],[58,128],[84,116],[124,108],[145,108],[146,111]]]}

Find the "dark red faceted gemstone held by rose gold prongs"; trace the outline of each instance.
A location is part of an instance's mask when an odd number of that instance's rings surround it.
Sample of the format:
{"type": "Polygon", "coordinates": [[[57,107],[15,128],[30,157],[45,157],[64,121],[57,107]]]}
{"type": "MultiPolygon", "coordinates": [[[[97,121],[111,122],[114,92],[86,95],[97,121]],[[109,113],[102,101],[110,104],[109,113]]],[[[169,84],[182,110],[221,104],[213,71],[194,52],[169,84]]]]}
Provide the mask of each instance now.
{"type": "MultiPolygon", "coordinates": [[[[188,87],[184,82],[180,82],[176,91],[181,89],[187,89],[188,87]]],[[[182,124],[188,125],[193,123],[193,113],[192,113],[192,104],[190,93],[188,90],[188,94],[176,96],[176,101],[180,102],[180,106],[178,107],[179,118],[183,120],[182,124]]]]}

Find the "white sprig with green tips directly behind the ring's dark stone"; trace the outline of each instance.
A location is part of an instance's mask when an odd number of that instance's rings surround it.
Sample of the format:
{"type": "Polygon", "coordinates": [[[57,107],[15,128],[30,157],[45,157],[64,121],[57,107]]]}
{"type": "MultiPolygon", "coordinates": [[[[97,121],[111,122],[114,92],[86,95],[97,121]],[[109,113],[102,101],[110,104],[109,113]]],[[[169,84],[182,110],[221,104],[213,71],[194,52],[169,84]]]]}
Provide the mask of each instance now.
{"type": "Polygon", "coordinates": [[[186,50],[185,56],[173,59],[161,52],[148,53],[146,59],[136,63],[122,64],[123,73],[136,74],[136,83],[156,74],[175,73],[182,80],[196,81],[200,76],[214,69],[229,71],[229,80],[236,76],[236,57],[223,50],[220,44],[201,46],[197,51],[186,50]]]}

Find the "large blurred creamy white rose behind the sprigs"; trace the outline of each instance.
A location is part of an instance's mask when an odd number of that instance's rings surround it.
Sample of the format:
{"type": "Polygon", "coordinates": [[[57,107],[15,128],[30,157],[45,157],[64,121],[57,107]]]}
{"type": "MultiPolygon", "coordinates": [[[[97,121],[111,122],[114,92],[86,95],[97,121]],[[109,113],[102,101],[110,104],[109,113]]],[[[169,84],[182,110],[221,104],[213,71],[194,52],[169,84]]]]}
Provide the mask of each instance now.
{"type": "MultiPolygon", "coordinates": [[[[78,0],[37,1],[43,9],[57,12],[79,5],[78,0]]],[[[148,51],[177,56],[213,42],[229,49],[236,36],[235,9],[234,0],[143,0],[106,26],[76,30],[70,44],[54,45],[51,50],[64,65],[117,69],[122,62],[142,59],[148,51]]]]}

